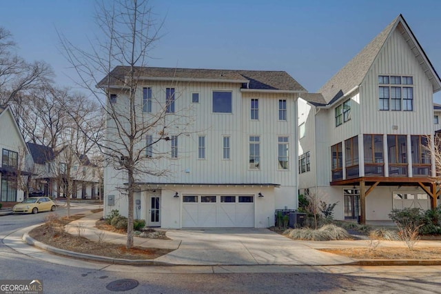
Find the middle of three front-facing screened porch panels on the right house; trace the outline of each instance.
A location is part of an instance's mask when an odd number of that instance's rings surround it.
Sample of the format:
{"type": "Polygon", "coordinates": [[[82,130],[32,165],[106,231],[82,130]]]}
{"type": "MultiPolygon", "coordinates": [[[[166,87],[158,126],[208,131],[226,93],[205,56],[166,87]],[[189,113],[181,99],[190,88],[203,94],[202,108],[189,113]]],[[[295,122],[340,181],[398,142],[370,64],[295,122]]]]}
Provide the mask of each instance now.
{"type": "Polygon", "coordinates": [[[389,175],[391,177],[407,176],[406,135],[387,135],[389,155],[389,175]]]}

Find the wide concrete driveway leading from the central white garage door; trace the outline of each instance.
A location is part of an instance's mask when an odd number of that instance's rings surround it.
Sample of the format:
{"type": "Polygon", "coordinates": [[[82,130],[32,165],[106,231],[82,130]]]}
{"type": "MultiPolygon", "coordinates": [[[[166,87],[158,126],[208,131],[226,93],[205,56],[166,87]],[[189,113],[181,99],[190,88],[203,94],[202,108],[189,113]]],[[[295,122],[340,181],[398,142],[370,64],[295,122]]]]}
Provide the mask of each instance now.
{"type": "Polygon", "coordinates": [[[317,251],[266,228],[170,230],[181,240],[176,251],[155,262],[181,265],[331,265],[353,259],[317,251]]]}

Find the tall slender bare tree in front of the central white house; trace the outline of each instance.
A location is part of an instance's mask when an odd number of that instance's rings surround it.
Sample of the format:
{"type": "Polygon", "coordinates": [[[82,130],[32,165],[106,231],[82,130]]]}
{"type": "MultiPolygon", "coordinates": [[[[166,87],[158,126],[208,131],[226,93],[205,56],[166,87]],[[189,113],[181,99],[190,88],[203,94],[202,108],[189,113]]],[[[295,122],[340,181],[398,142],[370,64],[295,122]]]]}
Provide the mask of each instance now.
{"type": "MultiPolygon", "coordinates": [[[[158,156],[154,158],[146,156],[146,153],[158,141],[172,139],[167,135],[172,126],[182,126],[181,132],[176,134],[178,136],[192,123],[192,118],[185,110],[169,113],[172,99],[163,103],[152,93],[161,110],[149,115],[144,115],[136,102],[142,95],[140,77],[145,74],[143,70],[147,66],[149,52],[158,40],[158,32],[163,24],[156,21],[148,4],[145,0],[99,3],[96,24],[100,33],[95,38],[96,42],[91,43],[90,50],[78,48],[60,35],[65,57],[76,70],[80,84],[101,101],[105,111],[105,139],[98,141],[94,138],[104,155],[105,164],[119,170],[127,178],[127,184],[118,187],[127,197],[127,248],[133,246],[134,191],[140,188],[136,184],[136,177],[165,176],[170,173],[167,168],[148,164],[167,157],[167,153],[156,154],[158,156]],[[123,98],[114,101],[117,96],[123,98]],[[147,134],[152,133],[157,134],[152,141],[140,144],[145,142],[147,134]]],[[[167,94],[171,98],[172,93],[167,94]]],[[[175,100],[178,96],[174,93],[175,100]]]]}

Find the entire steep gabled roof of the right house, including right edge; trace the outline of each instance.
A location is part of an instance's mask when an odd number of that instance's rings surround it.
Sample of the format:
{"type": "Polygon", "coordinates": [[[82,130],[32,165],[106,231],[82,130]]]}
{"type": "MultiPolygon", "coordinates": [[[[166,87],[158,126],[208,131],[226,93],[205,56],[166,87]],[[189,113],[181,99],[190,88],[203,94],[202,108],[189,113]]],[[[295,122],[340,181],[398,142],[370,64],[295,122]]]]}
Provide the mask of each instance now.
{"type": "Polygon", "coordinates": [[[356,57],[353,57],[346,66],[337,72],[334,77],[331,77],[331,79],[318,90],[318,92],[322,93],[327,104],[332,104],[334,101],[338,100],[339,97],[347,95],[353,88],[360,86],[363,79],[366,77],[367,72],[371,68],[373,61],[375,61],[378,53],[384,46],[384,43],[396,28],[400,30],[413,54],[423,66],[427,77],[432,82],[433,92],[441,90],[441,80],[438,73],[433,68],[424,50],[422,50],[420,43],[418,43],[418,40],[413,35],[413,32],[407,25],[404,17],[400,14],[396,19],[393,19],[393,21],[389,23],[380,34],[367,44],[356,57]]]}

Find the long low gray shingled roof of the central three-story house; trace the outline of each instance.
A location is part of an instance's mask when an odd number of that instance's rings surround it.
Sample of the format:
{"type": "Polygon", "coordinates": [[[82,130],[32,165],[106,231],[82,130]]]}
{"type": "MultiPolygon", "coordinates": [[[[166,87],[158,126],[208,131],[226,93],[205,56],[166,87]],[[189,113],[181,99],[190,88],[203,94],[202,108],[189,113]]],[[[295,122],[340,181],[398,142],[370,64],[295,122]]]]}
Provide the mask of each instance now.
{"type": "MultiPolygon", "coordinates": [[[[110,85],[124,84],[124,79],[130,72],[128,66],[116,66],[110,72],[110,85]]],[[[141,79],[164,79],[186,81],[229,81],[237,83],[249,82],[249,88],[255,90],[288,90],[307,92],[287,72],[270,70],[212,70],[199,68],[154,68],[136,67],[135,75],[141,79]]],[[[98,86],[107,84],[107,77],[98,86]]]]}

